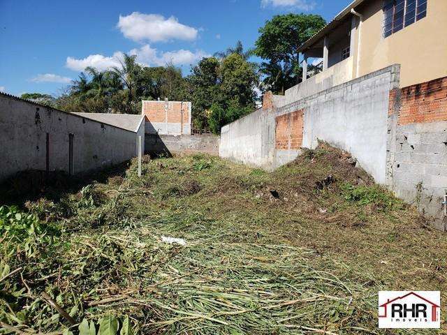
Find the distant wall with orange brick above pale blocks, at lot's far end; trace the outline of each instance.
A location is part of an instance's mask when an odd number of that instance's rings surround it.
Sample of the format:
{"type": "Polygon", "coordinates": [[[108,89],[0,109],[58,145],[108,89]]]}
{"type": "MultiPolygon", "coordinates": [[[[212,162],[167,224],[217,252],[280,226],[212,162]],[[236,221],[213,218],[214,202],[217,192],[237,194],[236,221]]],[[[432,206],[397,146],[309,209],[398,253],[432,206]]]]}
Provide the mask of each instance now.
{"type": "Polygon", "coordinates": [[[186,101],[142,101],[146,133],[160,135],[191,134],[191,103],[186,101]]]}

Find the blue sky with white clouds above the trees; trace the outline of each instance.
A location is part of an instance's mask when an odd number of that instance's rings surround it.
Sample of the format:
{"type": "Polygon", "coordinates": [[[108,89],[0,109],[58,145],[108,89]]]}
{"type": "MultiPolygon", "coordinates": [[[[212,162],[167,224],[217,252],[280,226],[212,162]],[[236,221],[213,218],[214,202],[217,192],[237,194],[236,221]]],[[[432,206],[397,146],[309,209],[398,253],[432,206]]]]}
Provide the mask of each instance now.
{"type": "Polygon", "coordinates": [[[0,91],[58,95],[88,65],[122,52],[189,73],[203,56],[242,40],[252,47],[273,15],[332,19],[350,0],[0,0],[0,91]]]}

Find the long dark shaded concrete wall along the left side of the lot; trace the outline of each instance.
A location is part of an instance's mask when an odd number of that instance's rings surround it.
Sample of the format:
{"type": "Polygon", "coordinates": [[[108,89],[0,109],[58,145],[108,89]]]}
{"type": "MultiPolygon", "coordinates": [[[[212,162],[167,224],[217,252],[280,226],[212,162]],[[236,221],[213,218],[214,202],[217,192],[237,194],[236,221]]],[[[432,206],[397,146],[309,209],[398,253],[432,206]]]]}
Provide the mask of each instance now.
{"type": "MultiPolygon", "coordinates": [[[[144,122],[139,133],[144,132],[144,122]]],[[[22,170],[68,172],[73,134],[73,172],[122,163],[137,154],[135,132],[0,94],[0,180],[22,170]]]]}

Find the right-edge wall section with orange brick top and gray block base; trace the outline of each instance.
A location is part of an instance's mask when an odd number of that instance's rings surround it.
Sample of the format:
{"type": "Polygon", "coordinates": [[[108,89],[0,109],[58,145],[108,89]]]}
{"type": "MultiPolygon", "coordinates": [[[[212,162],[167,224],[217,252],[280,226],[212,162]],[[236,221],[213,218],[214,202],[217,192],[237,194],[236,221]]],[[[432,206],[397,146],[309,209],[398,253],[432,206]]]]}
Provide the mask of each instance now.
{"type": "Polygon", "coordinates": [[[446,230],[447,77],[390,92],[392,187],[446,230]]]}

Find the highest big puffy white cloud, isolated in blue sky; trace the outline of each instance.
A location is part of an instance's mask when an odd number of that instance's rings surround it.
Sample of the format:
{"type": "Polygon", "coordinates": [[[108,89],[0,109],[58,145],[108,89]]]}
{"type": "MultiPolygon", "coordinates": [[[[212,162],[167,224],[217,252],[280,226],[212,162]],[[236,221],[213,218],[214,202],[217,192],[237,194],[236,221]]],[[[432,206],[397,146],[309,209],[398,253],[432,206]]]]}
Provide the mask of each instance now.
{"type": "Polygon", "coordinates": [[[117,27],[126,38],[135,41],[195,40],[198,34],[198,29],[179,23],[176,17],[166,19],[163,15],[138,12],[119,15],[117,27]]]}

